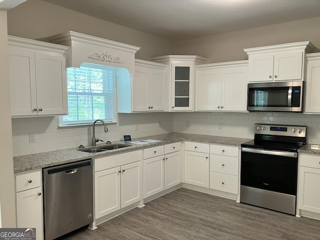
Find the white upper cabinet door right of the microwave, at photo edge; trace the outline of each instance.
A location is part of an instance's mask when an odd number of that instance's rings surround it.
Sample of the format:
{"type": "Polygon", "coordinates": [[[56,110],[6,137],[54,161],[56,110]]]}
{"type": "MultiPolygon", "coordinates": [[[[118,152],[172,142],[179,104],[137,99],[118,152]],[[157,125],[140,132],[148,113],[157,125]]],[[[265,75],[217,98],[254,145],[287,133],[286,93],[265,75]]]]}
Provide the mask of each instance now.
{"type": "Polygon", "coordinates": [[[320,60],[307,62],[304,112],[320,113],[320,60]]]}

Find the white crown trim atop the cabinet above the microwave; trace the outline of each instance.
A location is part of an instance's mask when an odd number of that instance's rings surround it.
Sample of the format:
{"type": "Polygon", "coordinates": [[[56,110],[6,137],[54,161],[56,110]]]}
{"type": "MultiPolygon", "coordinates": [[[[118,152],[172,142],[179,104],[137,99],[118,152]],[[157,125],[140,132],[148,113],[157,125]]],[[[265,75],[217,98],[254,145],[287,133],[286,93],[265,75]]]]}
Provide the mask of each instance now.
{"type": "Polygon", "coordinates": [[[244,48],[243,50],[248,54],[259,54],[259,53],[271,53],[276,51],[287,51],[287,50],[305,50],[305,53],[311,52],[314,45],[310,41],[300,41],[292,43],[284,43],[270,46],[260,46],[252,48],[244,48]]]}

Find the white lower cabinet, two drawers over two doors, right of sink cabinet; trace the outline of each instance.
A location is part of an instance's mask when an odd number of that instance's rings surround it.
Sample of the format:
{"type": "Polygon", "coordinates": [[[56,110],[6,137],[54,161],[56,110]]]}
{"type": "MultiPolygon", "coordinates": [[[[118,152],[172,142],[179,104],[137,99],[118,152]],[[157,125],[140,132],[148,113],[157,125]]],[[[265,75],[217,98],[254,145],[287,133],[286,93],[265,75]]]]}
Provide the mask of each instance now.
{"type": "Polygon", "coordinates": [[[175,142],[143,150],[143,198],[181,183],[180,149],[175,142]]]}

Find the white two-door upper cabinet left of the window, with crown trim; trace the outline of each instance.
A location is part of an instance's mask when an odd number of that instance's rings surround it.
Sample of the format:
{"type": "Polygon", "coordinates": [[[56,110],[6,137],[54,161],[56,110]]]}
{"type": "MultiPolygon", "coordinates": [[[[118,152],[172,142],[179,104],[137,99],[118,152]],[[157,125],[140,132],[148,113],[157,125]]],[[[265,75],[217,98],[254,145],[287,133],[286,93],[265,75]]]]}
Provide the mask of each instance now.
{"type": "Polygon", "coordinates": [[[67,47],[8,37],[11,116],[67,114],[67,47]]]}

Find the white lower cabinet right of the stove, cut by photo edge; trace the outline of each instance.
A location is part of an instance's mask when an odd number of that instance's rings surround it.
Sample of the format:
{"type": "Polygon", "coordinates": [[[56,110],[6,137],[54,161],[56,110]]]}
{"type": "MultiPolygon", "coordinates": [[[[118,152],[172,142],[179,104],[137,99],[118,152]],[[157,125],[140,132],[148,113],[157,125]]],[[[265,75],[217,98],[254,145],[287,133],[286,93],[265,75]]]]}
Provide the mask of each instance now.
{"type": "Polygon", "coordinates": [[[299,157],[298,208],[320,213],[320,156],[299,157]]]}

